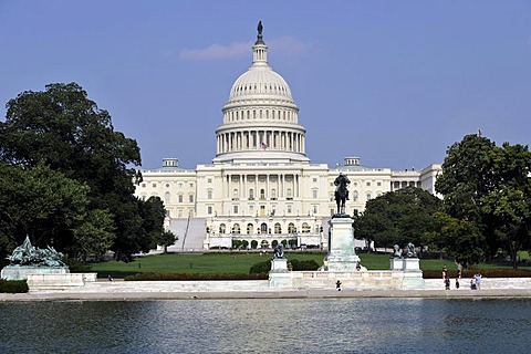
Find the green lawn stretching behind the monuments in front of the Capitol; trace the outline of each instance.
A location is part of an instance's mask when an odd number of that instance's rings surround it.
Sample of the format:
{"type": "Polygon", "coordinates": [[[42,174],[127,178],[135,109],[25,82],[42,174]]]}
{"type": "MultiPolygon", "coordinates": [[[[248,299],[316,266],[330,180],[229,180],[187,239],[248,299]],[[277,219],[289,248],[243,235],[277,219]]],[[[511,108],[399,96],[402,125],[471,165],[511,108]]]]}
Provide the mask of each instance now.
{"type": "MultiPolygon", "coordinates": [[[[315,260],[323,263],[324,252],[285,252],[288,260],[315,260]]],[[[361,253],[362,264],[368,270],[388,270],[389,254],[361,253]]],[[[204,254],[157,254],[137,258],[134,262],[124,263],[116,261],[92,263],[92,271],[97,272],[100,278],[112,274],[114,278],[123,278],[128,274],[153,273],[248,273],[251,266],[271,259],[272,252],[232,252],[232,253],[204,253],[204,254]]],[[[421,259],[421,270],[440,271],[442,266],[455,271],[457,266],[450,260],[421,259]]],[[[489,269],[510,269],[509,266],[480,263],[475,269],[482,271],[489,269]]],[[[529,267],[519,269],[531,270],[529,267]]]]}

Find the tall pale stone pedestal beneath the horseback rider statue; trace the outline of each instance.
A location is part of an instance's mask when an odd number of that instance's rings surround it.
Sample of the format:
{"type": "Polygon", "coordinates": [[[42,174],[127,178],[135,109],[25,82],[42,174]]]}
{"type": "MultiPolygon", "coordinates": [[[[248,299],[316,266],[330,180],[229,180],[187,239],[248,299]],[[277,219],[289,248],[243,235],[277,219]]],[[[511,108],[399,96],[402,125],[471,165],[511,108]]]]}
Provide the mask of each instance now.
{"type": "Polygon", "coordinates": [[[329,271],[356,271],[360,257],[354,250],[354,230],[352,218],[347,215],[334,216],[330,220],[329,271]]]}

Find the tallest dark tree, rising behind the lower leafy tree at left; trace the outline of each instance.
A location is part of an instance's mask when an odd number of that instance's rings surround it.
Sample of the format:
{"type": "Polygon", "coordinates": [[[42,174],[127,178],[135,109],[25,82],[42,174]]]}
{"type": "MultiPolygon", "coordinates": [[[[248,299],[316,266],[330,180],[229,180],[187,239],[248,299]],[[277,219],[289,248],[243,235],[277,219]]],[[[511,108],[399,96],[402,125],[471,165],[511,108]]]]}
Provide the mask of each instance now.
{"type": "MultiPolygon", "coordinates": [[[[44,92],[27,91],[7,104],[6,122],[0,122],[0,160],[31,168],[43,162],[50,169],[88,186],[88,210],[113,215],[116,254],[131,259],[146,251],[153,237],[138,216],[133,192],[140,180],[140,165],[134,139],[115,132],[111,115],[87,98],[75,83],[49,84],[44,92]],[[133,241],[132,241],[133,240],[133,241]]],[[[164,206],[159,206],[160,212],[164,206]]],[[[160,231],[162,232],[162,231],[160,231]]]]}

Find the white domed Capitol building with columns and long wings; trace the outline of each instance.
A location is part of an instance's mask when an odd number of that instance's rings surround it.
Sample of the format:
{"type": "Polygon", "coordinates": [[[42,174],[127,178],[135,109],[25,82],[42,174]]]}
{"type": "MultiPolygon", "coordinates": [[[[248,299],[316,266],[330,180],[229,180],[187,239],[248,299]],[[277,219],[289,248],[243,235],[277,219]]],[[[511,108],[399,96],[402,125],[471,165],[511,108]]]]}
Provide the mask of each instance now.
{"type": "Polygon", "coordinates": [[[231,248],[235,241],[247,248],[284,241],[326,249],[340,173],[351,180],[350,215],[363,211],[367,200],[407,186],[435,194],[440,165],[393,171],[363,166],[356,156],[345,157],[341,166],[313,164],[305,153],[305,132],[290,86],[268,63],[260,23],[252,64],[235,81],[222,107],[211,164],[185,169],[177,158],[165,158],[160,168],[142,170],[135,195],[164,201],[166,227],[178,236],[168,250],[178,251],[231,248]]]}

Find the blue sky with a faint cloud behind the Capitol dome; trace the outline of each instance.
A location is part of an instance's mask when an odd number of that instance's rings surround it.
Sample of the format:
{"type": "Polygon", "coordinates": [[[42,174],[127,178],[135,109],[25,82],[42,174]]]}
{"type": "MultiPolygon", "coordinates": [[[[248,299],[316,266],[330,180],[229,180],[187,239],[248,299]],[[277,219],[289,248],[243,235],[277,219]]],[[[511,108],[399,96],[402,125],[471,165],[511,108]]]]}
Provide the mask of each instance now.
{"type": "Polygon", "coordinates": [[[76,82],[143,167],[209,164],[263,23],[312,163],[421,169],[482,134],[531,143],[531,1],[0,0],[0,102],[76,82]]]}

